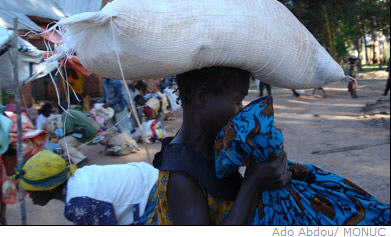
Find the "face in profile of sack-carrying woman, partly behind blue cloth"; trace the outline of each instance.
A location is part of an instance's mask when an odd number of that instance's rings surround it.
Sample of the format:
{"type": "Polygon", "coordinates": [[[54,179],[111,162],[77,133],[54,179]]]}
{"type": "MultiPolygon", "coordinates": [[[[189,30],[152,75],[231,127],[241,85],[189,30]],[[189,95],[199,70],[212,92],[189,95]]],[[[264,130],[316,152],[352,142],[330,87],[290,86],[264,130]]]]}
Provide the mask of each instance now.
{"type": "Polygon", "coordinates": [[[242,101],[248,94],[249,81],[217,94],[209,93],[204,108],[201,109],[201,124],[209,137],[216,137],[221,128],[239,112],[242,101]]]}

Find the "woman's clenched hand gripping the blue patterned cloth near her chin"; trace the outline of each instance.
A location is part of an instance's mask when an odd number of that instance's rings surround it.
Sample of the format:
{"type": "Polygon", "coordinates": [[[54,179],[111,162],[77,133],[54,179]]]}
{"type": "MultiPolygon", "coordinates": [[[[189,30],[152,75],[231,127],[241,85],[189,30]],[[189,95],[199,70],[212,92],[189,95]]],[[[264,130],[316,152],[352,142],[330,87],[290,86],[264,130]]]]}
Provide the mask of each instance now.
{"type": "Polygon", "coordinates": [[[277,159],[269,162],[252,159],[246,168],[244,182],[262,189],[278,189],[286,186],[291,176],[287,168],[286,153],[283,151],[277,159]]]}

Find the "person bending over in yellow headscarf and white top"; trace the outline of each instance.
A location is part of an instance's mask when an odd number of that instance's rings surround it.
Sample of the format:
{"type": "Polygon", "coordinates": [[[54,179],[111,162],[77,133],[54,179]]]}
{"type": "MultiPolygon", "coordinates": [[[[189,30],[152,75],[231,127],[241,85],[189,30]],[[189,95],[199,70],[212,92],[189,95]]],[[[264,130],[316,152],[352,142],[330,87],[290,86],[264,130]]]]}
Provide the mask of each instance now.
{"type": "Polygon", "coordinates": [[[65,217],[76,225],[157,224],[157,177],[158,170],[145,162],[76,169],[48,150],[31,157],[15,175],[34,204],[63,201],[65,217]]]}

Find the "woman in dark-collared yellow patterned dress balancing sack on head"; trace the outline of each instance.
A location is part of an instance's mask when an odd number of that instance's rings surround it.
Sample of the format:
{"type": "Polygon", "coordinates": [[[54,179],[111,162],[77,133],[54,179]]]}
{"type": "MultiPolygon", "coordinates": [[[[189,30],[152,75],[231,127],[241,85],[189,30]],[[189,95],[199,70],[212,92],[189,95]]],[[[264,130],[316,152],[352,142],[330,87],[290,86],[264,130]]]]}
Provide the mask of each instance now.
{"type": "Polygon", "coordinates": [[[242,107],[250,73],[211,67],[177,75],[183,123],[155,155],[158,168],[160,225],[249,224],[261,190],[280,188],[289,180],[286,157],[253,162],[245,177],[238,172],[217,179],[214,139],[242,107]]]}

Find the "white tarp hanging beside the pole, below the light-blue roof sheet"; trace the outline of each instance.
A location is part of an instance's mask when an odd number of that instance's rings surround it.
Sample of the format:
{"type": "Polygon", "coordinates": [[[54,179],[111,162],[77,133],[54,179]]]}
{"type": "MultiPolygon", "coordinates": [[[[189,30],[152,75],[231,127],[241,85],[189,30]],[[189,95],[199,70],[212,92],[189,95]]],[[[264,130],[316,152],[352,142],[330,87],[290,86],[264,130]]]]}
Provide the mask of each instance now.
{"type": "MultiPolygon", "coordinates": [[[[13,65],[9,54],[12,36],[12,31],[0,26],[0,87],[2,89],[15,87],[13,65]]],[[[21,38],[18,38],[18,53],[18,76],[21,83],[46,76],[57,68],[57,61],[44,63],[43,51],[21,38]]]]}

